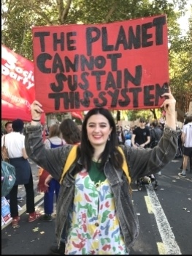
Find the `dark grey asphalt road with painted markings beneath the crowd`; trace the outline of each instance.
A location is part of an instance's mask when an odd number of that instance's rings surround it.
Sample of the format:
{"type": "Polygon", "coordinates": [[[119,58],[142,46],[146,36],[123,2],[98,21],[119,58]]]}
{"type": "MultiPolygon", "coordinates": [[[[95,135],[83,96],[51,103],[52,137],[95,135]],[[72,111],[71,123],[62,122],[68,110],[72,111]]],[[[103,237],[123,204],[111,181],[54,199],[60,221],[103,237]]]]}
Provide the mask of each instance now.
{"type": "MultiPolygon", "coordinates": [[[[181,159],[175,159],[156,175],[158,190],[152,186],[143,186],[142,191],[132,184],[133,203],[139,218],[139,237],[131,249],[132,255],[191,255],[192,230],[192,174],[187,178],[177,174],[181,159]]],[[[38,169],[31,164],[34,176],[34,188],[37,188],[38,169]]],[[[19,196],[25,191],[20,186],[19,196]]],[[[43,194],[35,194],[36,207],[43,212],[43,194]]],[[[2,255],[48,255],[49,247],[55,241],[55,215],[53,222],[28,223],[25,200],[20,228],[12,229],[11,224],[1,229],[2,255]]]]}

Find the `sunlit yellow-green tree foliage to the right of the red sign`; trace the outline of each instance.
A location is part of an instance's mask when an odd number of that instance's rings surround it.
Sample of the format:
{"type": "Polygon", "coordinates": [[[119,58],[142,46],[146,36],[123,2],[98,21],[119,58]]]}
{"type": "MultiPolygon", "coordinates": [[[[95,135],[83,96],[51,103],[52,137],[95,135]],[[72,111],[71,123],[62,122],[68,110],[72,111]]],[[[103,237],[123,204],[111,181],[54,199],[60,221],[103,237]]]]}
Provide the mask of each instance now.
{"type": "MultiPolygon", "coordinates": [[[[187,34],[171,45],[169,59],[170,84],[177,109],[186,113],[192,101],[192,14],[187,34]]],[[[183,116],[180,115],[178,120],[183,121],[183,116]]]]}

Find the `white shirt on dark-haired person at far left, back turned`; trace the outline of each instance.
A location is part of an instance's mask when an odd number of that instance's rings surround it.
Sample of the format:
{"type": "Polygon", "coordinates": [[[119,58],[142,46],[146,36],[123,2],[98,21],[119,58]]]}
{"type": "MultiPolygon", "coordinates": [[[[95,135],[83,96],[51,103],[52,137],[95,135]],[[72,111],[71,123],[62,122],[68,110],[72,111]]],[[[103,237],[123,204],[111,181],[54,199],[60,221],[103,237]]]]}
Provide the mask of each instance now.
{"type": "MultiPolygon", "coordinates": [[[[23,157],[23,148],[25,148],[25,136],[20,132],[12,131],[5,134],[5,147],[7,147],[9,158],[23,157]]],[[[1,138],[1,147],[4,145],[4,136],[1,138]]]]}

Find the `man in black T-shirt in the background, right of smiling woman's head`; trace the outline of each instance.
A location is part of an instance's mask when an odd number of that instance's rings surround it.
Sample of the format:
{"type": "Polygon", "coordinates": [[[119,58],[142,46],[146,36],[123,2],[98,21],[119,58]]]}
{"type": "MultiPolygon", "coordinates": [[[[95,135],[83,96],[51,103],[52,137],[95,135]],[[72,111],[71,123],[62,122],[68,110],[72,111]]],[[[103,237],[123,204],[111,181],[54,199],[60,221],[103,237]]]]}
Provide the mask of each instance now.
{"type": "Polygon", "coordinates": [[[132,147],[149,147],[150,146],[150,129],[145,127],[145,118],[141,117],[139,126],[134,129],[131,136],[132,147]]]}

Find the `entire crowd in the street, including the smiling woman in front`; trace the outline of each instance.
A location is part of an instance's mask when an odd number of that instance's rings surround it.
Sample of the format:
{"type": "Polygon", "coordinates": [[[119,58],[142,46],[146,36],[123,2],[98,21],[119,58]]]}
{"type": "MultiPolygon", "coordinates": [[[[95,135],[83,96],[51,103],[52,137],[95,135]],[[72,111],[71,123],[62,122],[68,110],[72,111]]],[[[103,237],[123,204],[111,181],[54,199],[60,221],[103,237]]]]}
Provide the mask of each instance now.
{"type": "MultiPolygon", "coordinates": [[[[31,124],[26,127],[25,135],[22,120],[8,122],[1,146],[5,143],[10,163],[16,169],[15,186],[9,192],[12,227],[19,227],[17,194],[21,184],[26,189],[28,222],[37,219],[50,222],[53,195],[57,196],[57,246],[51,246],[53,254],[128,255],[139,234],[137,213],[131,201],[131,182],[160,173],[177,154],[175,100],[171,92],[162,96],[166,96],[162,105],[166,111],[164,128],[156,121],[147,125],[143,117],[137,127],[123,128],[115,125],[110,111],[94,108],[85,115],[80,128],[66,119],[60,125],[51,125],[43,141],[39,122],[43,108],[37,100],[31,104],[31,124]],[[63,175],[74,145],[77,145],[75,159],[63,175]],[[43,215],[34,208],[28,158],[48,172],[43,215]]],[[[192,150],[191,117],[187,120],[180,135],[183,166],[179,175],[183,177],[192,150]]]]}

